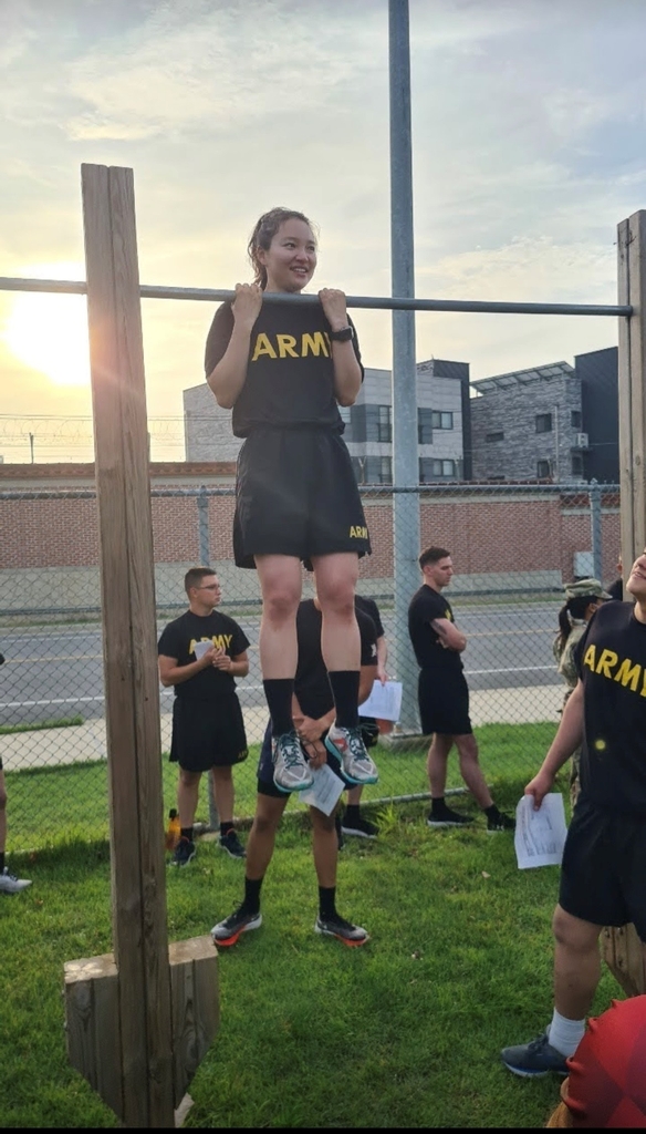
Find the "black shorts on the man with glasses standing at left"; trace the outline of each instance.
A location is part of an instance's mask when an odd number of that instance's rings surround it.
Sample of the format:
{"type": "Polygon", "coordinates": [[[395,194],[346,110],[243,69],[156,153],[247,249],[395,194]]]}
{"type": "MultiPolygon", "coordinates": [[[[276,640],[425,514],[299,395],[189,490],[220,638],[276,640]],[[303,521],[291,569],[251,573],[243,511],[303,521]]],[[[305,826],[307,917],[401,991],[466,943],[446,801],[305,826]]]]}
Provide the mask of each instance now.
{"type": "Polygon", "coordinates": [[[246,760],[247,737],[235,693],[218,701],[184,701],[172,706],[170,759],[187,772],[229,768],[246,760]]]}

